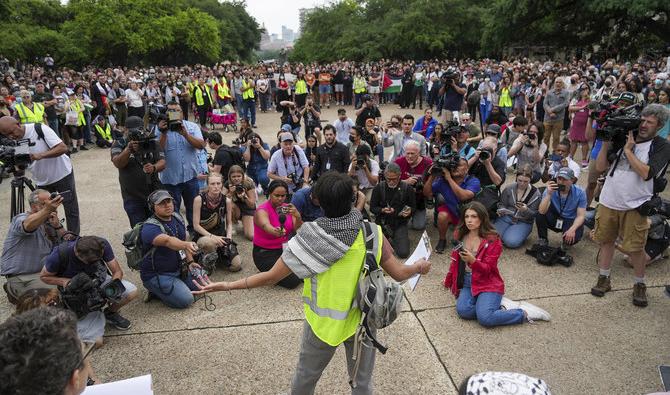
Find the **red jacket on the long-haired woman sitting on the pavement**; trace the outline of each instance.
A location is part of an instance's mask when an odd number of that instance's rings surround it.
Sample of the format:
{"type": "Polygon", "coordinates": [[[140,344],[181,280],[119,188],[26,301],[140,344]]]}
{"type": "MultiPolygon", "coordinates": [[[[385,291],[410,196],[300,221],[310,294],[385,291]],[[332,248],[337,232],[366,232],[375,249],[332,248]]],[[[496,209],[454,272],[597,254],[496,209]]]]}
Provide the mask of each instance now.
{"type": "MultiPolygon", "coordinates": [[[[505,293],[505,283],[498,271],[498,258],[502,253],[502,241],[498,235],[492,235],[484,243],[479,245],[479,250],[475,255],[476,259],[472,262],[472,296],[477,296],[482,292],[505,293]]],[[[458,297],[458,260],[460,256],[458,251],[451,253],[451,265],[449,273],[444,278],[444,286],[451,289],[451,293],[458,297]]]]}

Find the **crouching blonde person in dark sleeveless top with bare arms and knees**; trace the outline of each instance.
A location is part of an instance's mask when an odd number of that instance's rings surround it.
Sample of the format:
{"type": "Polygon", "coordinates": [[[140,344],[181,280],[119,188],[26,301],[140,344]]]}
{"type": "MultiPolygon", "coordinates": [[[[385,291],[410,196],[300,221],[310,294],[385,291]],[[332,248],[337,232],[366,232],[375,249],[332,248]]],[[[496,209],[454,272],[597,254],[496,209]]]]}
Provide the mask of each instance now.
{"type": "MultiPolygon", "coordinates": [[[[240,185],[240,187],[242,187],[240,185]]],[[[234,193],[234,192],[233,192],[234,193]]],[[[242,270],[237,245],[233,242],[233,203],[223,193],[223,176],[210,173],[207,176],[207,190],[193,201],[193,241],[203,254],[218,254],[217,264],[225,270],[242,270]]]]}

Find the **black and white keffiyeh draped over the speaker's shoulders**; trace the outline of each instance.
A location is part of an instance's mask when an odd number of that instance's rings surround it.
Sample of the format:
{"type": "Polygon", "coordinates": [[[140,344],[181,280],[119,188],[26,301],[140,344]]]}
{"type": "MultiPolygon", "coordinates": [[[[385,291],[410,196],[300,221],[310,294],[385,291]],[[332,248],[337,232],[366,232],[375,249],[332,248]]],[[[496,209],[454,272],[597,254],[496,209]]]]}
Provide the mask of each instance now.
{"type": "Polygon", "coordinates": [[[342,217],[305,222],[289,240],[282,259],[299,278],[323,273],[354,244],[362,222],[363,215],[354,209],[342,217]]]}

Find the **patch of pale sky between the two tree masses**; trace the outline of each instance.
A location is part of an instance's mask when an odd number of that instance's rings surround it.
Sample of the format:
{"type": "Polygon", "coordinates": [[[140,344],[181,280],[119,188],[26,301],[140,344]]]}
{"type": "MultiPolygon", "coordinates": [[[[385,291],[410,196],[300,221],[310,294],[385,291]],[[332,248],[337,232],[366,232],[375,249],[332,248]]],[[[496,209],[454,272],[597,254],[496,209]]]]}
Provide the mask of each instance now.
{"type": "Polygon", "coordinates": [[[327,5],[330,0],[246,0],[247,12],[256,18],[259,26],[268,30],[269,34],[276,33],[281,38],[281,27],[298,32],[300,25],[298,10],[327,5]]]}

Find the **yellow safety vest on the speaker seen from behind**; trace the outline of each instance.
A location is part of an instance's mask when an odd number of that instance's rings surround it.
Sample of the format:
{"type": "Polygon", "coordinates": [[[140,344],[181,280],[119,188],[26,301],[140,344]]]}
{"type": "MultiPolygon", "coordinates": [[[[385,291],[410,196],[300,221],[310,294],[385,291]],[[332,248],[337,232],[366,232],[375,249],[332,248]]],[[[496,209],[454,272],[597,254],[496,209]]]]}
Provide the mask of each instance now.
{"type": "MultiPolygon", "coordinates": [[[[381,227],[377,231],[375,259],[381,260],[381,227]]],[[[335,347],[356,333],[361,321],[361,310],[354,305],[358,280],[365,258],[363,231],[339,261],[330,269],[305,279],[302,292],[305,319],[312,332],[323,342],[335,347]]]]}

